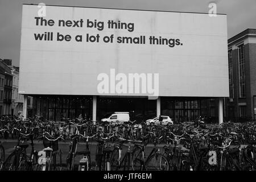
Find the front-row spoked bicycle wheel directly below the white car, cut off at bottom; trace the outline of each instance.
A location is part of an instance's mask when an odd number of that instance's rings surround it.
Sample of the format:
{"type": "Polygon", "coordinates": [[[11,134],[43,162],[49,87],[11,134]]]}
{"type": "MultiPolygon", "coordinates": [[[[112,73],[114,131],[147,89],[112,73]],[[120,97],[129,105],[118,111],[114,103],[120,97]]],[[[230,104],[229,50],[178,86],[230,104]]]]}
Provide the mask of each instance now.
{"type": "Polygon", "coordinates": [[[147,171],[168,171],[169,163],[162,154],[154,154],[148,158],[145,169],[147,171]]]}

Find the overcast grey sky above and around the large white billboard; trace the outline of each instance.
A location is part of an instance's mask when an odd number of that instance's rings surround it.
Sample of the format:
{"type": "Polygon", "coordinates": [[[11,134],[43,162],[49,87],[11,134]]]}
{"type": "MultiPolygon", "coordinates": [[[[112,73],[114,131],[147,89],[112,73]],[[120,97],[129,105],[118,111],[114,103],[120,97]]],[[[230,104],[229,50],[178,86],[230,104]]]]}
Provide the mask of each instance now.
{"type": "Polygon", "coordinates": [[[106,7],[208,13],[209,3],[217,4],[217,14],[227,14],[228,38],[256,28],[256,0],[0,0],[0,58],[19,66],[22,4],[106,7]]]}

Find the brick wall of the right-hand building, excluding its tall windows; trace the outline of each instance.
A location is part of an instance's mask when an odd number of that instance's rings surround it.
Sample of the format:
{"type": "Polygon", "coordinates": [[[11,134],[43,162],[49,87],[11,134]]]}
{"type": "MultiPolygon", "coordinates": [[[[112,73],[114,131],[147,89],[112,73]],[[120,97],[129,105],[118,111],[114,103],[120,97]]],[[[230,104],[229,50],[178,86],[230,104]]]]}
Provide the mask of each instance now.
{"type": "MultiPolygon", "coordinates": [[[[248,30],[247,30],[248,31],[248,30]]],[[[256,95],[256,34],[245,34],[242,32],[236,38],[232,38],[232,44],[229,44],[229,49],[232,48],[232,65],[233,65],[233,84],[234,98],[226,100],[226,108],[234,109],[233,117],[236,121],[241,120],[241,106],[246,106],[246,119],[254,118],[253,96],[256,95]],[[240,98],[240,79],[239,79],[239,56],[238,46],[244,44],[244,59],[245,59],[245,98],[240,98]]],[[[230,39],[229,39],[230,40],[230,39]]]]}

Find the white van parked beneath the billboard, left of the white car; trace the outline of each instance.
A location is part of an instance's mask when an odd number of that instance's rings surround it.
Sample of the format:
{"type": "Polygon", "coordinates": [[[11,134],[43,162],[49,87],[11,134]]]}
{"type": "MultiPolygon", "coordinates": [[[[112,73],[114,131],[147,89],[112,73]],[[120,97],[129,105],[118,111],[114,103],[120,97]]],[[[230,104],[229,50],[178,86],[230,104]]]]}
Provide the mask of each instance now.
{"type": "Polygon", "coordinates": [[[102,122],[126,122],[130,121],[129,112],[114,112],[113,114],[105,115],[105,118],[101,119],[102,122]]]}

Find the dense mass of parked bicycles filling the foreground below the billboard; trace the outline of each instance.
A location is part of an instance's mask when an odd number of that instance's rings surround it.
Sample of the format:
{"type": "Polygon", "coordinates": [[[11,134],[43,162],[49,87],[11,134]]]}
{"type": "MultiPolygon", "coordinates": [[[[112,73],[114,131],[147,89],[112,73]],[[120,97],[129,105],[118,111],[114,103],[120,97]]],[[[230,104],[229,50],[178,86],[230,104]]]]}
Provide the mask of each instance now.
{"type": "Polygon", "coordinates": [[[255,123],[221,125],[146,125],[135,122],[97,123],[24,121],[1,125],[3,139],[15,138],[5,159],[0,143],[0,168],[28,171],[255,171],[255,123]],[[35,140],[43,142],[35,150],[35,140]],[[68,151],[59,147],[69,142],[68,151]],[[79,144],[83,149],[79,150],[79,144]],[[93,146],[93,147],[92,147],[93,146]],[[63,154],[66,153],[65,156],[63,154]]]}

